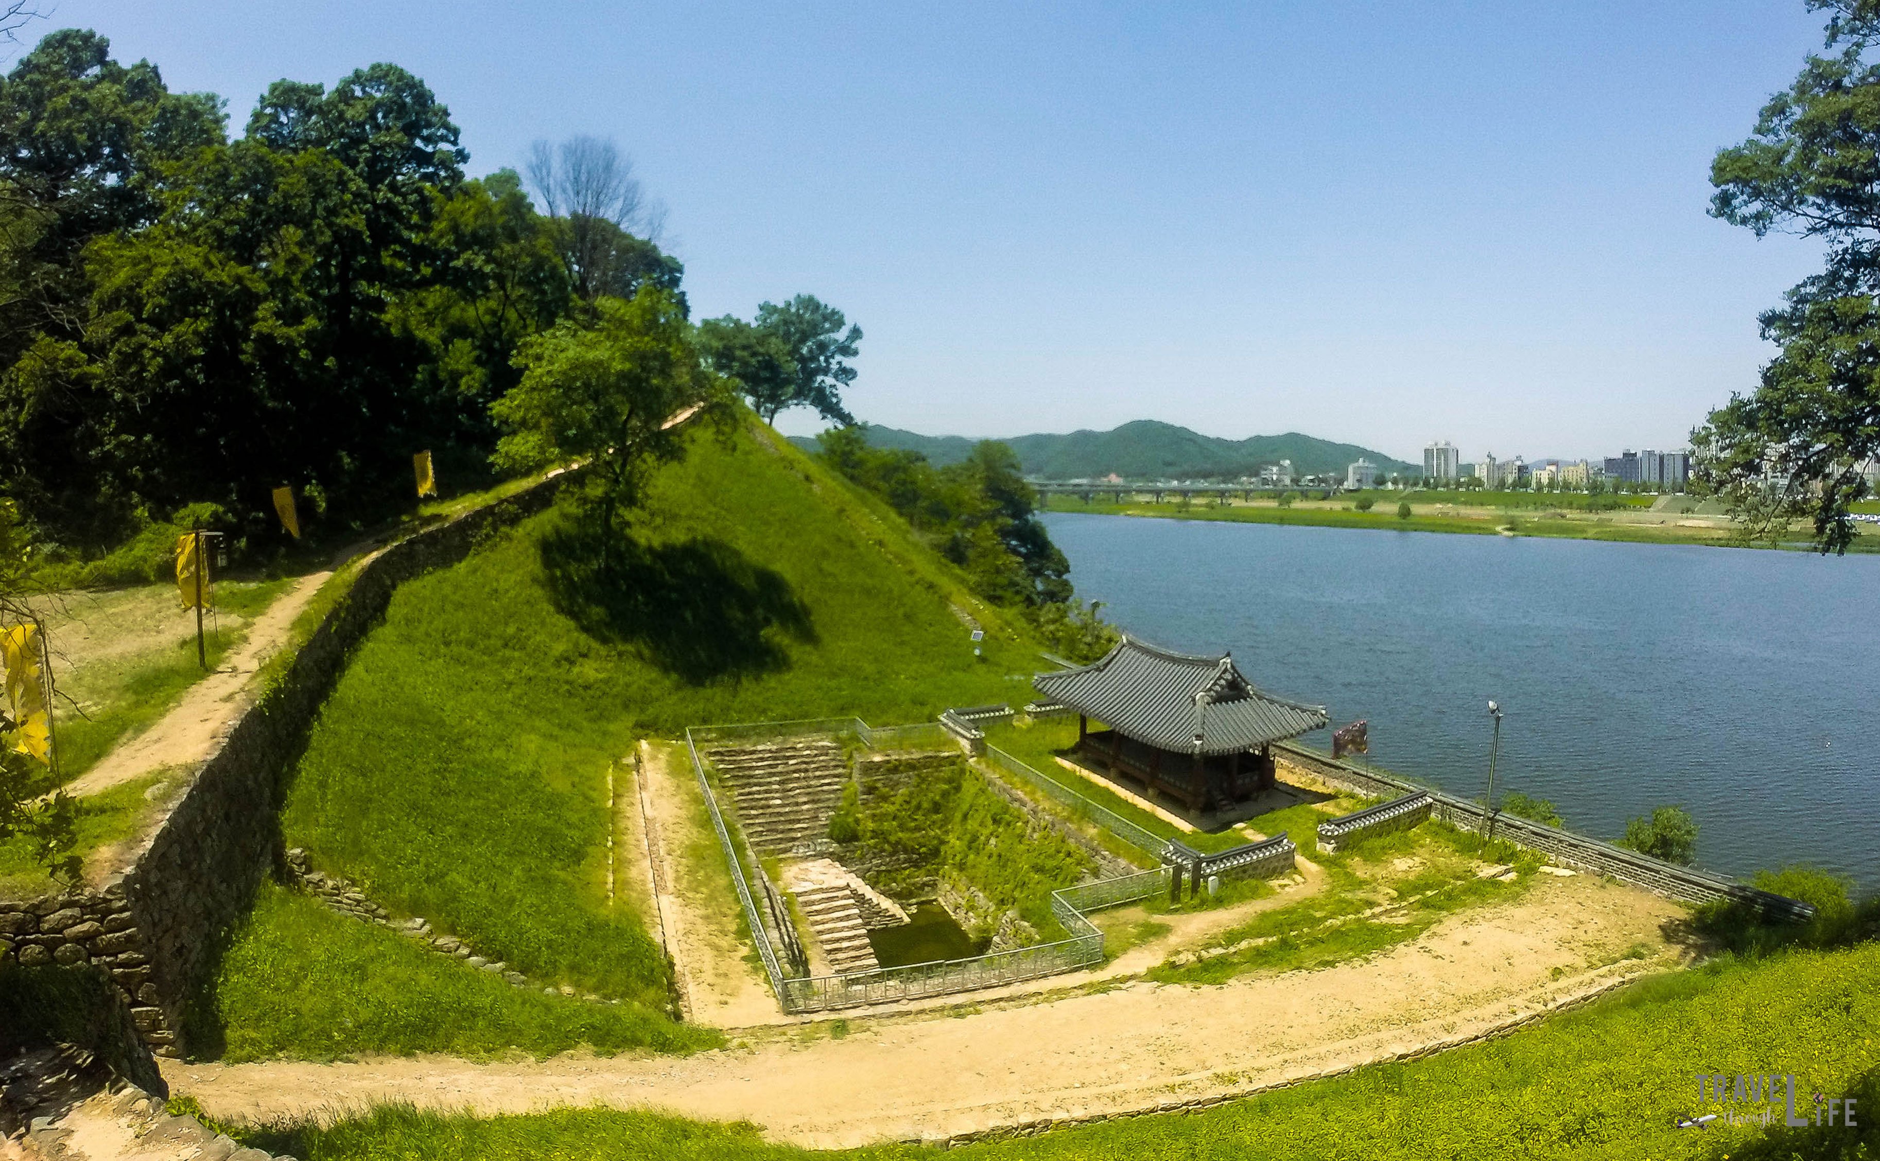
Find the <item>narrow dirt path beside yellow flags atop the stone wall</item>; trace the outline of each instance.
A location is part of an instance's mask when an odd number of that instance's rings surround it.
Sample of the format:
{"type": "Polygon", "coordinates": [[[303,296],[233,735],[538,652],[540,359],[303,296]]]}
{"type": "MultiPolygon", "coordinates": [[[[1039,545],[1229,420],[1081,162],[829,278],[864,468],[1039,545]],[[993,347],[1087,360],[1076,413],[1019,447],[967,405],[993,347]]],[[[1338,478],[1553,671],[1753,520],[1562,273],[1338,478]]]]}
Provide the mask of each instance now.
{"type": "MultiPolygon", "coordinates": [[[[288,639],[293,618],[331,575],[323,571],[301,577],[299,584],[280,594],[261,616],[254,618],[241,648],[222,669],[190,686],[177,708],[103,755],[66,789],[79,797],[96,795],[164,766],[194,766],[207,759],[216,738],[252,701],[256,671],[288,639]]],[[[196,624],[194,616],[192,612],[190,626],[196,624]]]]}

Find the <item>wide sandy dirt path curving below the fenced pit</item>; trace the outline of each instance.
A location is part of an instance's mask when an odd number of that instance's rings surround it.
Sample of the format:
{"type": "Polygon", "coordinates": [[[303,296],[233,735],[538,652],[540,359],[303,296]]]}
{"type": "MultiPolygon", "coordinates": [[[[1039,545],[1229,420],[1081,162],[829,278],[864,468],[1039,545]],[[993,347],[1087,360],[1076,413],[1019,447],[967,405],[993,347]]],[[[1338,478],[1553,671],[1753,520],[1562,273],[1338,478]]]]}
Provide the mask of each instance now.
{"type": "Polygon", "coordinates": [[[252,1120],[382,1101],[479,1114],[600,1103],[752,1120],[820,1148],[931,1140],[1243,1093],[1487,1035],[1664,968],[1681,915],[1611,883],[1547,879],[1365,962],[1209,988],[1132,983],[964,1016],[854,1020],[842,1039],[776,1029],[692,1058],[165,1061],[164,1073],[211,1114],[252,1120]],[[1634,945],[1656,954],[1624,958],[1634,945]]]}

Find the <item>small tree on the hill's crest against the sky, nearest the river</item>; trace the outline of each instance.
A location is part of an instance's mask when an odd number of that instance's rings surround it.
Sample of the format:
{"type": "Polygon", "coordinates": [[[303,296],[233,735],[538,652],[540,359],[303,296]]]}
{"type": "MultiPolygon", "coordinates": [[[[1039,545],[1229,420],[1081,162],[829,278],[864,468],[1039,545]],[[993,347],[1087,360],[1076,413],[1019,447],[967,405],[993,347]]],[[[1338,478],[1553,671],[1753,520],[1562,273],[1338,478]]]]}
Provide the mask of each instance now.
{"type": "MultiPolygon", "coordinates": [[[[713,351],[724,351],[728,359],[750,355],[758,340],[739,327],[739,319],[726,316],[711,321],[713,351]]],[[[718,370],[737,376],[743,383],[750,406],[765,423],[776,419],[778,411],[790,408],[816,408],[816,413],[831,423],[852,425],[855,417],[842,406],[842,389],[855,381],[855,368],[844,363],[859,353],[861,327],[842,327],[848,319],[835,306],[820,302],[814,295],[797,295],[778,306],[761,302],[758,321],[752,327],[780,346],[763,346],[761,361],[776,351],[788,351],[784,376],[771,374],[767,363],[744,363],[746,370],[760,372],[754,379],[744,379],[737,370],[718,366],[718,370]]]]}

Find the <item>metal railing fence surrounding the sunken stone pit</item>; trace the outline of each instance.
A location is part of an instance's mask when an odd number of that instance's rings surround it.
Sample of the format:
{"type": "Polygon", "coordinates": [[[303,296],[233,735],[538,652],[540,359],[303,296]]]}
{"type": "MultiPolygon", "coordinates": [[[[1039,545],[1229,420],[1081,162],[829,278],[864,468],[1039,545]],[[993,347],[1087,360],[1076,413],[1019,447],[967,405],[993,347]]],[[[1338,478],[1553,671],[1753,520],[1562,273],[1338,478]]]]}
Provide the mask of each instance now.
{"type": "MultiPolygon", "coordinates": [[[[731,887],[737,890],[737,902],[744,909],[744,922],[750,928],[752,943],[758,945],[758,956],[763,960],[763,969],[771,979],[771,988],[776,992],[776,998],[786,1013],[816,1013],[870,1003],[889,1003],[897,999],[916,999],[921,996],[946,996],[951,992],[970,992],[974,988],[991,988],[1057,975],[1060,971],[1073,971],[1077,968],[1090,968],[1104,962],[1104,934],[1087,919],[1087,913],[1167,890],[1169,868],[1166,866],[1115,879],[1100,879],[1096,883],[1079,883],[1075,887],[1051,892],[1051,913],[1068,932],[1068,937],[1053,943],[1017,947],[966,960],[936,960],[932,964],[876,968],[872,971],[848,971],[840,975],[790,975],[784,969],[784,964],[778,962],[771,932],[765,928],[763,913],[760,911],[756,896],[750,890],[750,879],[744,875],[744,864],[737,857],[737,842],[731,838],[731,828],[726,825],[724,813],[718,810],[718,795],[713,791],[711,778],[705,772],[705,761],[699,757],[699,744],[748,742],[758,738],[799,738],[814,735],[854,735],[872,748],[897,750],[927,750],[953,744],[953,736],[938,723],[874,729],[859,718],[707,725],[686,731],[686,751],[692,755],[692,772],[697,776],[699,793],[705,795],[705,806],[711,812],[713,828],[718,832],[718,845],[724,851],[726,866],[731,870],[731,887]]],[[[1004,759],[1000,766],[1023,778],[1028,785],[1055,787],[1058,800],[1073,808],[1081,802],[1083,806],[1115,819],[1115,825],[1128,827],[1136,834],[1160,844],[1160,840],[1141,827],[1128,823],[1081,795],[1058,787],[1025,763],[1019,763],[1004,753],[1000,753],[1000,757],[1004,759]]],[[[1045,793],[1051,791],[1047,789],[1045,793]]],[[[1111,825],[1104,817],[1096,817],[1102,825],[1111,825]]],[[[1137,842],[1128,834],[1124,834],[1124,838],[1132,844],[1137,842]]],[[[761,866],[752,866],[752,872],[758,875],[763,874],[761,866]]],[[[769,887],[769,883],[765,883],[765,887],[769,887]]]]}

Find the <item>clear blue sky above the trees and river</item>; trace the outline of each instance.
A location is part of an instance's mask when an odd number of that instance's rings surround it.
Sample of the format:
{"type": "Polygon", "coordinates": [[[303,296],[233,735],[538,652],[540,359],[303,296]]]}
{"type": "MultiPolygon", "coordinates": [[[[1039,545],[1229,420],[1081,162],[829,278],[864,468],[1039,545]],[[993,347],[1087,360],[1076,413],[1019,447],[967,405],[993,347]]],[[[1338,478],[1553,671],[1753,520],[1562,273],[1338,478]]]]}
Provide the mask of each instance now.
{"type": "Polygon", "coordinates": [[[1705,214],[1715,150],[1820,45],[1801,0],[56,0],[66,24],[237,130],[276,77],[391,60],[474,173],[613,137],[696,314],[840,306],[857,415],[931,434],[1679,447],[1818,261],[1705,214]]]}

